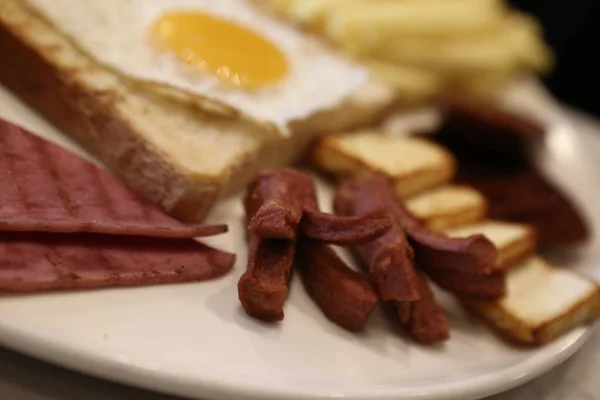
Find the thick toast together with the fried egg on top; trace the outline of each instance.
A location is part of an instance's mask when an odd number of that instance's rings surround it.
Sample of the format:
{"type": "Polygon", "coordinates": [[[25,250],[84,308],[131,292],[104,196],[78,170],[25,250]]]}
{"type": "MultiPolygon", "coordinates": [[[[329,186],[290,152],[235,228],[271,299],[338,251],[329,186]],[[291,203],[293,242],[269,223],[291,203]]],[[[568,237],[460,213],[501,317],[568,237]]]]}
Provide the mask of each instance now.
{"type": "Polygon", "coordinates": [[[263,167],[290,164],[315,135],[378,119],[394,97],[361,66],[244,1],[0,0],[0,7],[0,82],[185,220],[205,218],[263,167]],[[288,68],[265,78],[258,76],[265,57],[235,58],[239,73],[254,77],[236,85],[224,78],[233,71],[225,64],[215,76],[219,60],[204,73],[195,54],[188,61],[177,54],[196,34],[222,41],[198,50],[207,56],[241,46],[240,35],[288,68]]]}

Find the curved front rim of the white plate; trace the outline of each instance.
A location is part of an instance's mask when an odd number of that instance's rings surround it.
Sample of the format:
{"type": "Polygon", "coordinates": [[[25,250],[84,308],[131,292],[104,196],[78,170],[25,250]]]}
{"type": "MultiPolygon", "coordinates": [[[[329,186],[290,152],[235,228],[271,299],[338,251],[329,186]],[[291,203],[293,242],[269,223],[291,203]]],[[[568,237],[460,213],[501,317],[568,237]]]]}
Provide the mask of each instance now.
{"type": "MultiPolygon", "coordinates": [[[[0,318],[0,343],[31,357],[72,371],[106,379],[163,394],[185,396],[202,400],[305,400],[341,398],[345,400],[461,400],[481,399],[518,387],[550,371],[574,355],[593,335],[597,325],[582,326],[541,348],[536,353],[510,367],[455,382],[433,384],[427,387],[397,384],[365,385],[350,391],[296,390],[262,387],[258,384],[228,382],[222,376],[190,381],[171,371],[156,371],[140,365],[131,366],[124,360],[98,357],[93,352],[67,346],[65,343],[11,326],[0,318]],[[202,397],[198,397],[198,393],[202,397]]],[[[527,350],[526,347],[524,347],[527,350]]],[[[206,376],[206,375],[205,375],[206,376]]]]}

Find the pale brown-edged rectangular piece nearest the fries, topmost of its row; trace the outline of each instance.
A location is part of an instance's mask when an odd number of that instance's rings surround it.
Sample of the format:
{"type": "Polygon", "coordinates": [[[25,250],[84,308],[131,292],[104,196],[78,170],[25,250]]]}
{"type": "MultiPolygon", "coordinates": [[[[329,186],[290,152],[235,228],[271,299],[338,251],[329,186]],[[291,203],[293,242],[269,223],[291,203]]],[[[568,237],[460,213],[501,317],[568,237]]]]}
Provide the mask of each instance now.
{"type": "Polygon", "coordinates": [[[450,181],[456,170],[454,157],[433,142],[377,131],[327,136],[314,146],[311,158],[317,168],[337,178],[383,174],[403,197],[450,181]]]}

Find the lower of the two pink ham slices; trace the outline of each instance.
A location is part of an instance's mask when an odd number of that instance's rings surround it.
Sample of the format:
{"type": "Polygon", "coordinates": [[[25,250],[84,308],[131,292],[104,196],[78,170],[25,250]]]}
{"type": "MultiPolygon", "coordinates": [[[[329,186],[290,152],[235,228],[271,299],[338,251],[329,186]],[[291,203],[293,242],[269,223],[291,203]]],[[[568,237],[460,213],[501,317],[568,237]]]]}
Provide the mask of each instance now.
{"type": "Polygon", "coordinates": [[[235,255],[193,240],[98,234],[0,234],[0,290],[34,292],[201,281],[235,255]]]}

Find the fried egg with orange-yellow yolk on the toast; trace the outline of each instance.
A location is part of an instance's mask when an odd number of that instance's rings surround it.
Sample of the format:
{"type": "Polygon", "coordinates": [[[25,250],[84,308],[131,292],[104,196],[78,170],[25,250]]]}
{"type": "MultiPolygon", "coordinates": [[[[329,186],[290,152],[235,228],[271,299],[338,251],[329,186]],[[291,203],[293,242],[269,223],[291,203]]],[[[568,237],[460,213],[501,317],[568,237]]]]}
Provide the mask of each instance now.
{"type": "MultiPolygon", "coordinates": [[[[27,0],[123,77],[211,99],[286,131],[335,107],[367,72],[247,0],[27,0]]],[[[169,91],[161,91],[163,95],[169,91]]]]}

